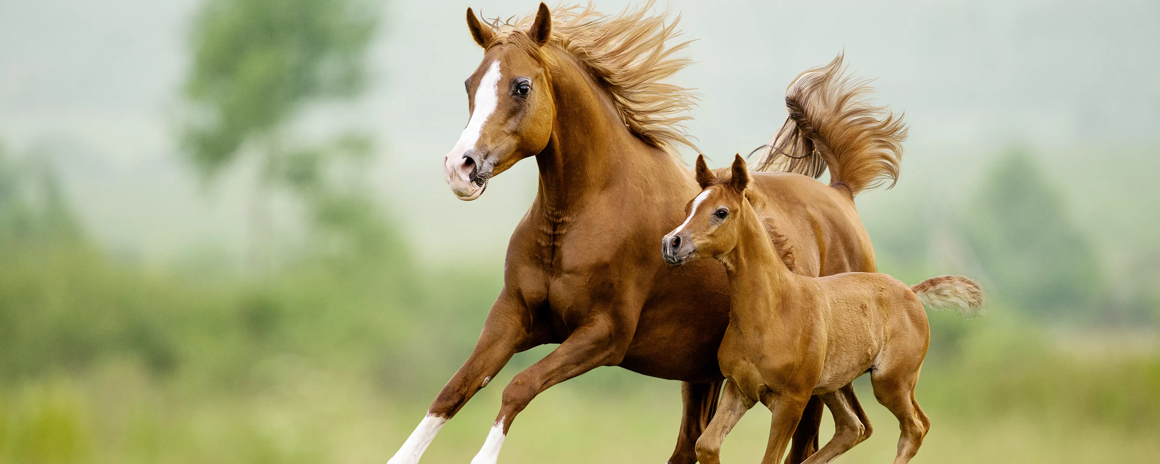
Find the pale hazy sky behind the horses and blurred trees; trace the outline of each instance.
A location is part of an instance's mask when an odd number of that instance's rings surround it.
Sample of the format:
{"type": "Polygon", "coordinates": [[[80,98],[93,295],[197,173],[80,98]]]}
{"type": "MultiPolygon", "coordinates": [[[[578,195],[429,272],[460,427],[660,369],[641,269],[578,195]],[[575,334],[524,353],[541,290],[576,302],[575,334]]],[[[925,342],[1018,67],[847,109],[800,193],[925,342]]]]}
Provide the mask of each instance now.
{"type": "MultiPolygon", "coordinates": [[[[0,2],[0,139],[12,151],[56,157],[97,237],[146,259],[201,244],[235,247],[242,237],[245,176],[205,191],[175,151],[176,93],[197,5],[0,2]]],[[[624,5],[597,2],[608,13],[624,5]]],[[[474,202],[455,200],[443,184],[442,155],[467,117],[463,79],[481,58],[464,26],[467,6],[507,17],[536,2],[386,3],[367,97],[305,119],[378,137],[384,161],[372,175],[389,208],[407,211],[400,218],[421,256],[498,255],[534,194],[532,162],[496,177],[474,202]]],[[[882,101],[906,113],[911,142],[900,188],[860,197],[864,215],[916,186],[958,191],[1010,145],[1036,148],[1050,162],[1054,151],[1160,142],[1160,2],[673,1],[667,8],[683,13],[682,29],[697,39],[689,51],[697,63],[677,79],[702,96],[690,132],[718,164],[776,130],[785,86],[799,72],[844,50],[850,70],[877,78],[882,101]]],[[[1076,155],[1065,161],[1071,167],[1054,171],[1057,177],[1086,168],[1076,155]]],[[[1101,193],[1123,195],[1116,182],[1086,188],[1095,189],[1097,200],[1085,206],[1093,210],[1101,193]]]]}

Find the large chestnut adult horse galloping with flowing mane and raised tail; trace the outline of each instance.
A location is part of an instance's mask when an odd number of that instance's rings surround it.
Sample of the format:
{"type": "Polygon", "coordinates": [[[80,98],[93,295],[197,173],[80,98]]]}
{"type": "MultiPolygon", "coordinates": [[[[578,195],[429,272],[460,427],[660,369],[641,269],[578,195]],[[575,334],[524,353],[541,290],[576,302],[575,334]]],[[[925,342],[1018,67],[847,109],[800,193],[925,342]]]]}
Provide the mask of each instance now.
{"type": "MultiPolygon", "coordinates": [[[[715,261],[676,268],[657,254],[698,188],[673,154],[693,146],[681,133],[693,97],[664,82],[689,63],[673,57],[688,43],[667,45],[680,32],[648,15],[651,6],[604,15],[541,3],[535,19],[510,23],[481,23],[467,8],[485,53],[466,80],[470,118],[444,158],[445,180],[461,200],[474,200],[488,180],[535,157],[539,188],[512,234],[503,289],[476,348],[390,464],[416,463],[513,354],[545,343],[559,346],[503,390],[473,463],[496,461],[512,421],[539,392],[601,365],[681,380],[684,413],[669,462],[696,461],[724,378],[717,348],[728,282],[715,261]]],[[[905,137],[901,121],[857,97],[863,88],[839,79],[841,57],[795,81],[790,118],[761,161],[814,176],[828,167],[833,187],[800,174],[754,175],[753,188],[782,206],[768,215],[785,224],[783,259],[812,276],[875,270],[853,197],[896,177],[905,137]]],[[[821,403],[811,405],[793,463],[817,449],[821,403]]]]}

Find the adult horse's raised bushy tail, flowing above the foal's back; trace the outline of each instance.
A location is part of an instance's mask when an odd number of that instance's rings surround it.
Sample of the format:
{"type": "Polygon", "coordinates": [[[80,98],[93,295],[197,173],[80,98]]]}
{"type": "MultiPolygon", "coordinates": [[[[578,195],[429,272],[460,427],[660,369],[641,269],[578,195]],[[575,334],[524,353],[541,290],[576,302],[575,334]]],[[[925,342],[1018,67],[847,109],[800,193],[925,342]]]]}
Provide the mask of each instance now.
{"type": "Polygon", "coordinates": [[[809,70],[785,93],[789,117],[766,145],[754,171],[821,176],[850,196],[898,181],[906,124],[870,101],[868,80],[846,74],[842,56],[809,70]]]}

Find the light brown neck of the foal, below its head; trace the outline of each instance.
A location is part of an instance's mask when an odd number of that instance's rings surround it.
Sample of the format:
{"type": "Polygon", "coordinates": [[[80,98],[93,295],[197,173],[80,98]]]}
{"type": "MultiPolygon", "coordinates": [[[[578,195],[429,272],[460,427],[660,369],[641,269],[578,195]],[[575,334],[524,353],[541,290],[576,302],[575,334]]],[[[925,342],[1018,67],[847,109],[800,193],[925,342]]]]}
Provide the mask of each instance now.
{"type": "Polygon", "coordinates": [[[793,273],[785,267],[766,232],[757,212],[741,205],[737,246],[720,256],[728,274],[732,318],[744,325],[764,325],[781,313],[783,300],[796,284],[793,273]]]}

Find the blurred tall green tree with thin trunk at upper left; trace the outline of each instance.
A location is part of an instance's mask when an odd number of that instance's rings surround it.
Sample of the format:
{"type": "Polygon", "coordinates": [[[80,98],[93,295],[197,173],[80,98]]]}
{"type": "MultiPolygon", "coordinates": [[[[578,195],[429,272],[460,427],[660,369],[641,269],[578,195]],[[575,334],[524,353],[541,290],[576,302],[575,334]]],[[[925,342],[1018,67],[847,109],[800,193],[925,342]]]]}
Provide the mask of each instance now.
{"type": "MultiPolygon", "coordinates": [[[[283,181],[304,197],[319,197],[317,172],[325,171],[322,154],[331,152],[288,150],[282,132],[307,104],[363,90],[374,13],[355,0],[209,0],[195,21],[184,86],[193,111],[183,145],[205,180],[239,157],[259,158],[249,215],[251,260],[260,273],[269,266],[269,190],[283,181]]],[[[350,138],[336,145],[369,151],[365,143],[345,142],[350,138]]],[[[333,209],[333,203],[309,205],[333,209]]]]}

